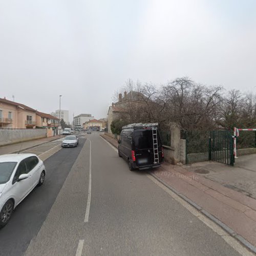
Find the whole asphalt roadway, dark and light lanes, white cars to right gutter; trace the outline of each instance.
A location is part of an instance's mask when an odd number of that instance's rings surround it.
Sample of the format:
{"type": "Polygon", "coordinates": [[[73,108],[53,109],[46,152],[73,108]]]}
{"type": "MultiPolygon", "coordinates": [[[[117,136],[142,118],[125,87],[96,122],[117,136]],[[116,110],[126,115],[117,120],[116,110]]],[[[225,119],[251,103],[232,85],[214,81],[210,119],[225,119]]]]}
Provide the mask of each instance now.
{"type": "Polygon", "coordinates": [[[0,231],[3,255],[239,255],[98,134],[87,137],[45,161],[45,185],[0,231]]]}

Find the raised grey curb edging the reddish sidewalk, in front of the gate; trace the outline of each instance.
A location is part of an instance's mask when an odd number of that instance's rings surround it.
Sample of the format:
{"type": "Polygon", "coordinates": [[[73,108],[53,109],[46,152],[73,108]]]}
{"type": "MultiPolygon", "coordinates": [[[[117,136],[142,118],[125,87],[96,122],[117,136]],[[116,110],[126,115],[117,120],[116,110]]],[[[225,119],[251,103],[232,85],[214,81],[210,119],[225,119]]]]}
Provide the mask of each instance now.
{"type": "Polygon", "coordinates": [[[200,211],[203,215],[205,215],[207,218],[209,218],[211,221],[215,222],[216,224],[218,224],[220,227],[222,227],[227,233],[230,234],[231,237],[236,238],[242,245],[244,245],[247,249],[249,249],[250,251],[256,253],[256,247],[254,245],[252,245],[250,242],[248,242],[246,239],[244,239],[243,237],[241,237],[238,233],[236,233],[232,228],[228,227],[226,224],[224,224],[222,221],[220,221],[219,219],[215,218],[213,215],[211,215],[208,211],[206,211],[205,209],[203,209],[201,206],[199,206],[198,204],[194,203],[193,201],[191,201],[190,199],[188,199],[186,196],[184,196],[183,194],[181,194],[178,190],[176,190],[174,187],[170,186],[169,184],[167,184],[165,181],[161,180],[158,176],[156,176],[155,174],[148,172],[148,174],[150,174],[151,176],[153,176],[155,179],[157,179],[159,182],[161,182],[163,185],[165,185],[166,187],[168,187],[170,190],[172,190],[176,195],[178,195],[179,197],[181,197],[183,200],[185,200],[187,203],[189,203],[190,205],[194,206],[198,211],[200,211]]]}

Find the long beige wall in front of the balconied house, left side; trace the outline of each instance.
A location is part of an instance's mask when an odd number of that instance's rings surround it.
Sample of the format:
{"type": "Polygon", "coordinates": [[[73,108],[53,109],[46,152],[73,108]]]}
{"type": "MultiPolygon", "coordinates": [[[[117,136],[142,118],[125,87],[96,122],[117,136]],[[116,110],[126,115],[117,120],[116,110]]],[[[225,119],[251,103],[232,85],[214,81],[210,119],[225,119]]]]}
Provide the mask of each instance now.
{"type": "Polygon", "coordinates": [[[47,137],[47,129],[0,130],[0,146],[47,137]]]}

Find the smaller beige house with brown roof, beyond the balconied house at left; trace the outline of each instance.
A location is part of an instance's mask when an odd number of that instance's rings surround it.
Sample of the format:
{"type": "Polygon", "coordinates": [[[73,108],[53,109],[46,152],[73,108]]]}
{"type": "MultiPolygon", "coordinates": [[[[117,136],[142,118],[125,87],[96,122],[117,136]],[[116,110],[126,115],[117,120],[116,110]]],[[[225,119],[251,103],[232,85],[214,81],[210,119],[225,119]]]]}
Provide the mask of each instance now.
{"type": "Polygon", "coordinates": [[[47,137],[57,135],[59,125],[60,120],[57,117],[36,111],[36,127],[47,128],[47,137]]]}

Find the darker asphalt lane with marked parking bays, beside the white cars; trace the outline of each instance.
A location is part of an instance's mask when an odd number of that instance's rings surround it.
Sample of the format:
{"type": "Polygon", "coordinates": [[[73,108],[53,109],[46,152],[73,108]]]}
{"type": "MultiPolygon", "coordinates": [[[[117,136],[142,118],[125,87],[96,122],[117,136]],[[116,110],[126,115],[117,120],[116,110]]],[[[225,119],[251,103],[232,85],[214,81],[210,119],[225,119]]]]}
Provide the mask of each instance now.
{"type": "MultiPolygon", "coordinates": [[[[31,239],[36,236],[49,214],[85,141],[81,138],[78,147],[62,148],[44,161],[47,170],[45,183],[35,187],[17,206],[8,225],[0,229],[0,255],[24,254],[31,239]]],[[[30,152],[37,152],[37,155],[40,155],[56,146],[60,147],[60,141],[32,148],[30,152]]],[[[49,153],[51,154],[51,151],[49,153]]]]}

